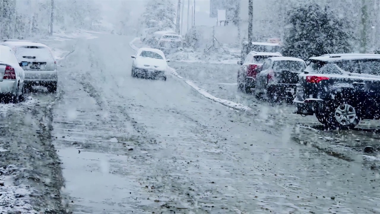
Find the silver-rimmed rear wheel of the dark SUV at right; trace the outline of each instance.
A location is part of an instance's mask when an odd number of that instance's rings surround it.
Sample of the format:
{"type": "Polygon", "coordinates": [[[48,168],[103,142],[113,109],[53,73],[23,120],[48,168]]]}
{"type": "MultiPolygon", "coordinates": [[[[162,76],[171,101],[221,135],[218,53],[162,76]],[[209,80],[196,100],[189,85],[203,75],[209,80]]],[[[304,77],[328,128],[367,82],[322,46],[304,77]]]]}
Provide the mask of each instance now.
{"type": "Polygon", "coordinates": [[[318,107],[317,120],[329,129],[353,129],[359,124],[358,108],[351,101],[333,101],[318,107]],[[324,107],[326,106],[326,107],[324,107]]]}

